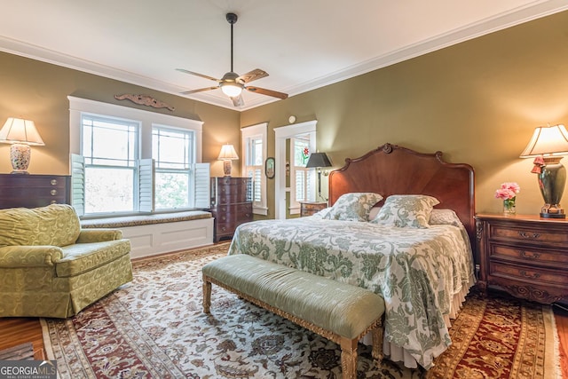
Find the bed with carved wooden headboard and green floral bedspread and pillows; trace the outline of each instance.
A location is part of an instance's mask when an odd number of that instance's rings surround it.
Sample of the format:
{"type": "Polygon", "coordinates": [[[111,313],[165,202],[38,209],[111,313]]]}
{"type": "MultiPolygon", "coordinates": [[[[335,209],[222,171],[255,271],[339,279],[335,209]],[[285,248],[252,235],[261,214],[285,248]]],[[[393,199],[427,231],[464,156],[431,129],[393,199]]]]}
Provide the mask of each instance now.
{"type": "Polygon", "coordinates": [[[385,144],[329,174],[312,217],[240,225],[228,254],[248,254],[373,290],[386,304],[383,348],[433,365],[475,284],[474,172],[442,153],[385,144]]]}

